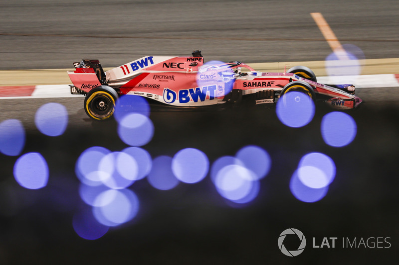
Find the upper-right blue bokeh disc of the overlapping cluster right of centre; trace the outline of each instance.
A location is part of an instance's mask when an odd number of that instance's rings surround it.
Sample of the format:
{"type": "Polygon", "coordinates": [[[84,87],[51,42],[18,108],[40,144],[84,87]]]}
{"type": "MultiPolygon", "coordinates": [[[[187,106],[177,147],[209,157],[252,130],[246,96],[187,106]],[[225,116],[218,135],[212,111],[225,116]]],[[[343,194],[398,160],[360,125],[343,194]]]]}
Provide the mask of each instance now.
{"type": "Polygon", "coordinates": [[[270,171],[270,156],[258,146],[245,146],[237,152],[235,157],[242,161],[245,168],[255,173],[257,179],[265,177],[270,171]]]}

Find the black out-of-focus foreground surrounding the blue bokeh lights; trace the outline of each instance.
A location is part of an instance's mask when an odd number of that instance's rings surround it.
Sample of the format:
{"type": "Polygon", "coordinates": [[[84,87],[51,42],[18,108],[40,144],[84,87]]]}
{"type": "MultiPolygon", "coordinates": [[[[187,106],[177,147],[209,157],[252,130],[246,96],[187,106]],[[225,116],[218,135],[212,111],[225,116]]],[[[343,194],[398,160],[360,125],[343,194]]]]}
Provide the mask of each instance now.
{"type": "MultiPolygon", "coordinates": [[[[171,190],[155,189],[146,178],[138,180],[129,187],[140,201],[138,215],[94,241],[80,238],[72,226],[76,212],[90,211],[79,197],[75,163],[92,146],[112,152],[127,148],[118,137],[117,123],[86,122],[91,126],[75,127],[69,122],[58,137],[45,136],[27,124],[22,154],[40,153],[49,179],[44,188],[23,188],[13,177],[17,157],[1,155],[1,264],[393,261],[399,244],[399,108],[365,103],[347,112],[358,131],[355,140],[341,148],[325,144],[320,133],[321,119],[330,111],[317,107],[308,125],[290,128],[278,120],[274,108],[174,111],[153,107],[154,136],[142,147],[153,159],[173,157],[190,147],[206,154],[211,166],[222,156],[255,145],[270,155],[270,172],[260,180],[257,197],[247,204],[223,199],[209,175],[171,190]],[[336,177],[324,198],[306,203],[292,195],[289,182],[300,159],[311,152],[331,157],[336,177]],[[297,228],[307,237],[307,248],[295,258],[284,256],[277,246],[287,228],[297,228]],[[315,249],[312,237],[390,237],[392,246],[345,249],[340,243],[334,249],[315,249]]],[[[83,109],[77,114],[86,119],[83,109]]],[[[295,242],[291,244],[295,248],[295,242]]]]}

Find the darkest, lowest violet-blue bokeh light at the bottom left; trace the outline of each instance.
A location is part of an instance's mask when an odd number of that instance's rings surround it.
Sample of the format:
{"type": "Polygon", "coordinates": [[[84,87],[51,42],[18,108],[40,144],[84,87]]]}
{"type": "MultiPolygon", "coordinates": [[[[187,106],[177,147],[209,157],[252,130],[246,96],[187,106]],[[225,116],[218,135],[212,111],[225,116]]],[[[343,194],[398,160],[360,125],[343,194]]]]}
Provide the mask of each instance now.
{"type": "Polygon", "coordinates": [[[73,215],[72,226],[76,234],[87,240],[96,240],[104,236],[109,227],[97,222],[91,211],[79,211],[73,215]]]}

